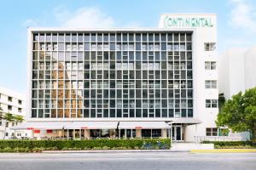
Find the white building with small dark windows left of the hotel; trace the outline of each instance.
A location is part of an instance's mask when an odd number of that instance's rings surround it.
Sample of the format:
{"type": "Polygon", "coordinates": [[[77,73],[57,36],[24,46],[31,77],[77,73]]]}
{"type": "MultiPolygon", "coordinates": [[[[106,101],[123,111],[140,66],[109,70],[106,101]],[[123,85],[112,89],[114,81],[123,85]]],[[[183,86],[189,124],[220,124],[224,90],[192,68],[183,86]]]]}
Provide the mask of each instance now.
{"type": "MultiPolygon", "coordinates": [[[[24,96],[5,88],[0,88],[0,108],[4,113],[26,116],[26,103],[24,96]]],[[[13,137],[30,137],[29,131],[12,130],[16,122],[6,122],[0,119],[0,139],[12,139],[13,137]]]]}

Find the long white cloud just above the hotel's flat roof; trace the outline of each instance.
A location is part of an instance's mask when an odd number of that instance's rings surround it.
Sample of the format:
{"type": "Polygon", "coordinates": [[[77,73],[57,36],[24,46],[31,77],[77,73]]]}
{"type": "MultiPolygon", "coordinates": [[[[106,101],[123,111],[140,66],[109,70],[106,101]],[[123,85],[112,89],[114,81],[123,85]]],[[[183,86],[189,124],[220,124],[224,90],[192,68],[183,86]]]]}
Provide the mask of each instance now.
{"type": "Polygon", "coordinates": [[[75,28],[106,28],[106,27],[139,27],[141,23],[138,21],[130,21],[127,23],[117,22],[109,14],[102,12],[97,7],[83,7],[76,10],[70,10],[65,6],[53,8],[51,12],[44,13],[36,20],[28,19],[21,26],[62,26],[75,28]],[[51,20],[49,20],[51,18],[51,20]]]}

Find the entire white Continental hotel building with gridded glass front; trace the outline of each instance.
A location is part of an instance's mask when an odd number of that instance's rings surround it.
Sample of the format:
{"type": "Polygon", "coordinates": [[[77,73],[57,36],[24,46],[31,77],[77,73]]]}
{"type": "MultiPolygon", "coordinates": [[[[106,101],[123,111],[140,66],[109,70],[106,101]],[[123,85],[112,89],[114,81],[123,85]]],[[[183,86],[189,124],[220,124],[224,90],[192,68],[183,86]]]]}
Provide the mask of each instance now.
{"type": "Polygon", "coordinates": [[[162,14],[158,28],[29,28],[34,137],[219,136],[215,14],[162,14]]]}

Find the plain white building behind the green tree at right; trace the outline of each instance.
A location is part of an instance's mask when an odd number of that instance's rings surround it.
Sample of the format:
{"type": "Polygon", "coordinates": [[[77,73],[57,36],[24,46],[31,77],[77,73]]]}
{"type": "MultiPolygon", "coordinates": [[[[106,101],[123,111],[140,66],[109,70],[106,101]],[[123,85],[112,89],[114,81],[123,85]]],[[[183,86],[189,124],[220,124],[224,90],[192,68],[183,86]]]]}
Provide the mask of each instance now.
{"type": "MultiPolygon", "coordinates": [[[[219,94],[226,99],[248,88],[256,87],[256,47],[230,48],[218,56],[219,94]]],[[[249,139],[249,133],[230,133],[230,136],[249,139]]]]}

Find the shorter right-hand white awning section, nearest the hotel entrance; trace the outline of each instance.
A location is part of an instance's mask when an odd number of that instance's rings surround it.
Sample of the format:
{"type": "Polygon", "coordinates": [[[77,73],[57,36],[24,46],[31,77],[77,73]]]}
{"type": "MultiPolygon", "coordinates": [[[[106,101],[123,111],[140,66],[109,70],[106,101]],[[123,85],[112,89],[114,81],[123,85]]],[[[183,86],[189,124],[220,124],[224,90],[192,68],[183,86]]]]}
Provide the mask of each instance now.
{"type": "Polygon", "coordinates": [[[166,122],[119,122],[119,129],[170,128],[166,122]]]}

